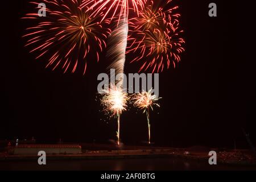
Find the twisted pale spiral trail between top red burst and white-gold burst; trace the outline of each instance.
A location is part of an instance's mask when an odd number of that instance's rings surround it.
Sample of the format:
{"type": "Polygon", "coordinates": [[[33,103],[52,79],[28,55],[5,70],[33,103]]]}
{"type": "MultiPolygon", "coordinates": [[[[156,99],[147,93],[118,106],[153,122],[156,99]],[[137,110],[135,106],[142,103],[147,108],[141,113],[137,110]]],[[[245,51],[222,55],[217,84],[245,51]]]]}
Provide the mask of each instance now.
{"type": "MultiPolygon", "coordinates": [[[[118,22],[118,26],[114,29],[108,40],[107,57],[112,62],[108,69],[115,69],[115,76],[122,74],[125,68],[125,53],[127,47],[128,36],[128,21],[124,18],[118,22]]],[[[120,80],[116,83],[123,86],[123,76],[119,77],[120,80]]],[[[110,78],[112,80],[112,78],[110,78]]]]}

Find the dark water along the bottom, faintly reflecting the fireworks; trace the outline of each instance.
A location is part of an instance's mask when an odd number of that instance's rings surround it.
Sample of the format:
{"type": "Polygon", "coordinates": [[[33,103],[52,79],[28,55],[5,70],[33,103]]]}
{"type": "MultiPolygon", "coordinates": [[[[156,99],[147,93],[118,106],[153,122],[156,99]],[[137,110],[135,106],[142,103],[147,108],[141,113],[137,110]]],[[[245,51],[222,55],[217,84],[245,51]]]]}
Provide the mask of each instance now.
{"type": "Polygon", "coordinates": [[[151,171],[151,170],[254,170],[256,166],[210,166],[207,160],[180,158],[160,159],[114,159],[114,160],[48,160],[47,166],[39,166],[37,161],[0,162],[0,170],[82,170],[82,171],[151,171]]]}

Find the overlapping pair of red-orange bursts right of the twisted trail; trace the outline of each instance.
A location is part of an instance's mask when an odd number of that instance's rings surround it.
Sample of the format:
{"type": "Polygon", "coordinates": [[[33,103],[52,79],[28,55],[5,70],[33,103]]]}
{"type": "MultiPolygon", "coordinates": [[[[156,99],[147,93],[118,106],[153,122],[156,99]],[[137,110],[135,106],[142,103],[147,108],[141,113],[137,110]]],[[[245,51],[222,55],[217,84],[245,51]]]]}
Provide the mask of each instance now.
{"type": "Polygon", "coordinates": [[[159,73],[171,65],[175,68],[176,63],[180,62],[180,53],[184,52],[185,42],[180,37],[183,31],[179,30],[180,15],[173,13],[177,7],[167,10],[164,7],[155,7],[151,1],[150,5],[139,11],[138,18],[129,21],[132,26],[127,53],[139,54],[131,60],[131,63],[142,62],[139,72],[150,70],[159,73]]]}

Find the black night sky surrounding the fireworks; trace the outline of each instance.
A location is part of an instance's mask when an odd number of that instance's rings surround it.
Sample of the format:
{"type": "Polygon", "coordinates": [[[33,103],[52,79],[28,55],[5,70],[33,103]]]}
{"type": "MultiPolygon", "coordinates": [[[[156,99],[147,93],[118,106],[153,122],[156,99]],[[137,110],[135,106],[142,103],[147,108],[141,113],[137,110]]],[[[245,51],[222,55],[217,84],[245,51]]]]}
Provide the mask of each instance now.
{"type": "MultiPolygon", "coordinates": [[[[115,139],[115,119],[108,122],[96,101],[97,76],[108,64],[104,53],[100,63],[89,61],[85,76],[45,69],[46,61],[35,60],[21,38],[30,26],[20,20],[32,11],[28,2],[1,2],[0,139],[99,143],[115,139]]],[[[236,2],[174,1],[180,6],[185,53],[176,69],[160,74],[163,99],[160,109],[151,113],[152,140],[157,145],[233,147],[236,140],[238,148],[247,148],[241,128],[256,144],[255,63],[240,58],[242,17],[236,2]],[[217,3],[216,18],[208,16],[210,2],[217,3]]],[[[138,72],[138,65],[128,60],[125,73],[138,72]]],[[[142,111],[123,113],[121,138],[126,144],[147,140],[142,111]]]]}

